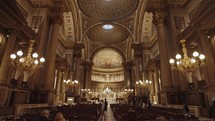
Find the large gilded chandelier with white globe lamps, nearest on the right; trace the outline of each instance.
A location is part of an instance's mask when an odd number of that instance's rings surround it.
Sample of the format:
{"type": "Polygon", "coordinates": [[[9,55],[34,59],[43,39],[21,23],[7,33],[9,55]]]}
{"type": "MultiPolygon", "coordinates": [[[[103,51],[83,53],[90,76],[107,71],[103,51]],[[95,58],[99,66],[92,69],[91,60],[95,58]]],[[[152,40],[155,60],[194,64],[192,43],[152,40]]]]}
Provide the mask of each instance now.
{"type": "Polygon", "coordinates": [[[196,69],[199,69],[201,66],[205,65],[204,59],[205,55],[199,54],[197,51],[193,52],[192,57],[188,57],[187,48],[185,46],[186,40],[181,40],[180,43],[182,45],[183,58],[180,54],[176,54],[175,60],[170,59],[169,63],[171,64],[171,68],[182,71],[182,72],[191,72],[196,69]]]}

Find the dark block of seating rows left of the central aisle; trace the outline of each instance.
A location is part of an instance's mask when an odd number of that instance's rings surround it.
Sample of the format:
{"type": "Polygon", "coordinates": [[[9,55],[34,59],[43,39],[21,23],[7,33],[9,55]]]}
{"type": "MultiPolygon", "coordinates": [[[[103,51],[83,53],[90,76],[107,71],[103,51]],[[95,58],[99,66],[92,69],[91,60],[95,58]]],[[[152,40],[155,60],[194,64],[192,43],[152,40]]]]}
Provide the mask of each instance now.
{"type": "Polygon", "coordinates": [[[50,119],[54,121],[54,117],[61,112],[68,121],[97,121],[100,117],[101,104],[77,104],[64,105],[57,107],[39,107],[25,108],[21,116],[7,116],[1,118],[1,121],[35,121],[42,110],[50,111],[50,119]]]}

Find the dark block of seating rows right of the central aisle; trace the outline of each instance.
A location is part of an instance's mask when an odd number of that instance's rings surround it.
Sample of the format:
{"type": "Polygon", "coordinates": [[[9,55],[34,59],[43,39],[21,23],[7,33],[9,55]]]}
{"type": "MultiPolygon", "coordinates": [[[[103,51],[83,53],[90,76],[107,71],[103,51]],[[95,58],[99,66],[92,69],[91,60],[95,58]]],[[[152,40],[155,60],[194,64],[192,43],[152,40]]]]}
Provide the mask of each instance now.
{"type": "Polygon", "coordinates": [[[198,121],[194,115],[184,116],[182,109],[165,107],[131,107],[127,104],[110,105],[116,121],[198,121]]]}

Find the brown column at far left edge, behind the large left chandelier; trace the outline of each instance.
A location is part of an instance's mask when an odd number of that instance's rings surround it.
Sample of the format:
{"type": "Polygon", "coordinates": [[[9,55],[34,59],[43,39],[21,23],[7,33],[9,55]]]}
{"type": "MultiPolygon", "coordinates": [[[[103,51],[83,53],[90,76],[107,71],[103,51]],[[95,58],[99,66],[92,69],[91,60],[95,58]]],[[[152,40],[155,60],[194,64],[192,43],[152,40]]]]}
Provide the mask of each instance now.
{"type": "Polygon", "coordinates": [[[10,68],[10,64],[8,64],[10,60],[10,54],[13,53],[14,46],[16,43],[17,31],[14,30],[10,34],[10,37],[7,40],[6,48],[4,51],[4,55],[2,58],[1,66],[0,66],[0,84],[7,83],[8,71],[10,68]]]}

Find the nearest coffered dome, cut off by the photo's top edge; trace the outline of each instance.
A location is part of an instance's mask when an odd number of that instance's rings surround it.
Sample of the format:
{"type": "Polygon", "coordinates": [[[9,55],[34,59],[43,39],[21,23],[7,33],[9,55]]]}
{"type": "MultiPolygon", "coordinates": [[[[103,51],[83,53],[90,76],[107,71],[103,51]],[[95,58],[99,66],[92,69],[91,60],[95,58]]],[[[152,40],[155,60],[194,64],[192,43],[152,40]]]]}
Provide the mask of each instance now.
{"type": "Polygon", "coordinates": [[[139,0],[78,0],[83,14],[102,22],[125,19],[134,13],[139,0]]]}

